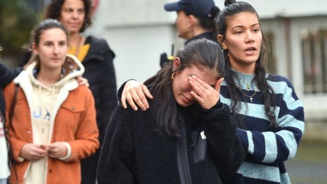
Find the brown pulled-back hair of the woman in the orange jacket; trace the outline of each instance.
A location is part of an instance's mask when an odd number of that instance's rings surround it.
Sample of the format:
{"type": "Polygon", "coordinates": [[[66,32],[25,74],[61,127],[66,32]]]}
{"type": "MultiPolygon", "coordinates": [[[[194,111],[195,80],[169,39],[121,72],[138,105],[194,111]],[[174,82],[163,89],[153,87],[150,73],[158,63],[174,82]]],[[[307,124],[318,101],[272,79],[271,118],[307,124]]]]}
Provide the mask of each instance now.
{"type": "MultiPolygon", "coordinates": [[[[67,29],[56,19],[45,19],[43,21],[41,21],[38,25],[36,25],[35,29],[32,32],[32,39],[31,42],[35,43],[37,45],[37,47],[39,46],[40,43],[40,37],[41,35],[44,33],[44,31],[46,30],[50,30],[50,29],[61,29],[67,37],[67,44],[68,44],[68,36],[69,36],[69,32],[67,31],[67,29]]],[[[33,54],[31,59],[29,60],[29,62],[24,66],[24,69],[26,69],[26,67],[28,65],[30,65],[31,63],[36,62],[36,68],[40,67],[40,58],[38,57],[38,55],[33,54]]],[[[70,71],[74,70],[76,64],[74,64],[75,62],[73,61],[72,58],[66,57],[66,60],[64,62],[64,64],[62,65],[63,68],[65,68],[65,75],[69,74],[70,71]]]]}

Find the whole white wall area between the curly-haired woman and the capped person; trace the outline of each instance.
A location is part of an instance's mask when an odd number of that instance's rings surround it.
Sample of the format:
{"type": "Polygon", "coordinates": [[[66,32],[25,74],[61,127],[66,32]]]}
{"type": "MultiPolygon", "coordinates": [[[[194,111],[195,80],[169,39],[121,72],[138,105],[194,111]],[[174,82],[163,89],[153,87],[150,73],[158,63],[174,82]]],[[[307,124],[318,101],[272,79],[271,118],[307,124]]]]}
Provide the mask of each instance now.
{"type": "Polygon", "coordinates": [[[100,1],[94,25],[87,34],[107,40],[115,52],[114,66],[117,85],[127,79],[144,82],[159,69],[161,53],[171,54],[182,45],[177,38],[176,13],[164,10],[166,0],[100,1]]]}

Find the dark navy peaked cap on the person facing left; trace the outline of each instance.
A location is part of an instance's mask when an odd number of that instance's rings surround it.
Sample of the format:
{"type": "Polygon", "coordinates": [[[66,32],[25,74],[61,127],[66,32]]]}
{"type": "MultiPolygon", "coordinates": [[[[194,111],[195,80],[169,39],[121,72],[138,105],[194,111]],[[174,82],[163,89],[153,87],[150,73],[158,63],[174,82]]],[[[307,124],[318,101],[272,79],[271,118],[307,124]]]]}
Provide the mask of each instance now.
{"type": "Polygon", "coordinates": [[[215,7],[213,0],[180,0],[175,3],[165,4],[166,11],[180,11],[183,10],[186,13],[203,17],[213,18],[211,13],[212,8],[215,7]]]}

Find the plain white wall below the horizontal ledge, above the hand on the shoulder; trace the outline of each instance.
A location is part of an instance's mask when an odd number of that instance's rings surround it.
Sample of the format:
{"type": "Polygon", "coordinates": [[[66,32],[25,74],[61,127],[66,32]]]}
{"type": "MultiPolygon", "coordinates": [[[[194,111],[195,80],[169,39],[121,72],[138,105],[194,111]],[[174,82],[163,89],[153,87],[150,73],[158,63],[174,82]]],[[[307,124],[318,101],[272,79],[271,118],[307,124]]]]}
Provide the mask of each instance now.
{"type": "Polygon", "coordinates": [[[118,86],[128,79],[144,82],[154,75],[160,69],[160,54],[170,53],[173,34],[169,26],[117,28],[107,31],[104,36],[110,40],[110,47],[116,54],[114,66],[118,86]]]}

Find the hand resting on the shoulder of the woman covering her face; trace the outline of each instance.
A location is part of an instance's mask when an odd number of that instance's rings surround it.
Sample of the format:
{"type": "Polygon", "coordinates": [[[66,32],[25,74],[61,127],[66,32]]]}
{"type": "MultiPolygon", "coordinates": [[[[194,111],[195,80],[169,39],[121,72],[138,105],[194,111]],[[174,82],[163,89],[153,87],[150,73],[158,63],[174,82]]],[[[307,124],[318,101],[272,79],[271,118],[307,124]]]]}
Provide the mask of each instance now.
{"type": "Polygon", "coordinates": [[[150,99],[153,99],[150,91],[147,86],[142,84],[141,82],[137,82],[135,80],[129,80],[126,82],[123,93],[122,93],[122,105],[124,108],[127,108],[126,100],[128,104],[134,109],[137,110],[136,104],[143,110],[147,110],[149,108],[149,103],[147,101],[147,96],[150,99]]]}

